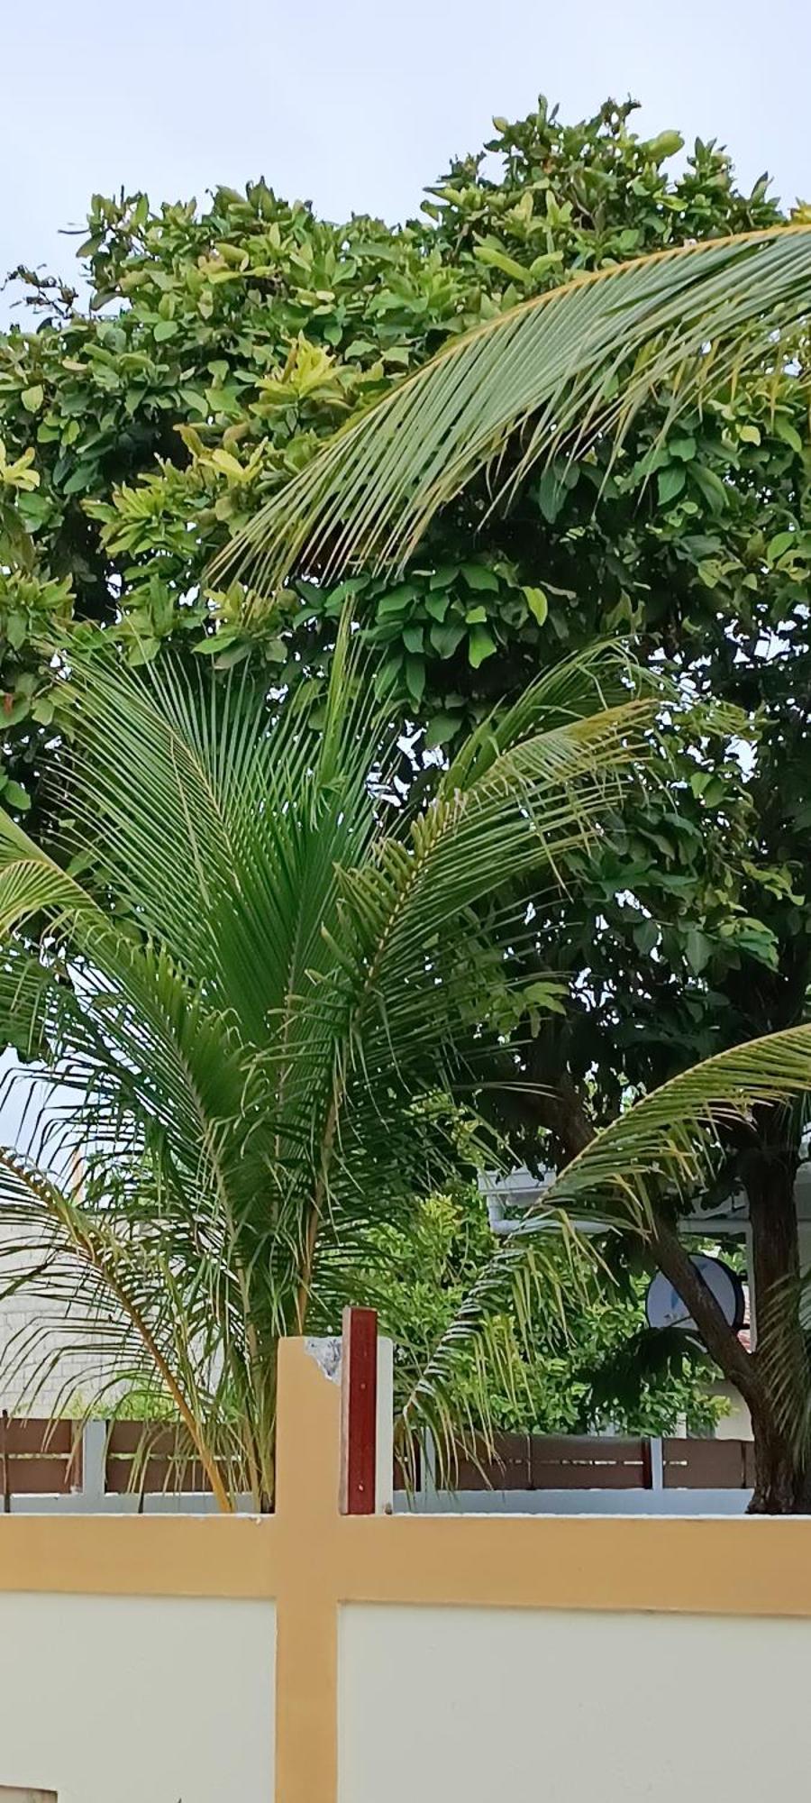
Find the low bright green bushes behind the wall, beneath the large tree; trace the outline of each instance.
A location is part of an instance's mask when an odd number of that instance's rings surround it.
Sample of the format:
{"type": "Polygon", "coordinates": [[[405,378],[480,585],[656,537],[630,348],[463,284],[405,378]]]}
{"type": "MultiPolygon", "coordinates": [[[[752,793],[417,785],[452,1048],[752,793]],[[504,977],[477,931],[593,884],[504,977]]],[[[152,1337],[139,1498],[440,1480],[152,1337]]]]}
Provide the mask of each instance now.
{"type": "MultiPolygon", "coordinates": [[[[407,1233],[378,1230],[380,1262],[366,1287],[380,1327],[395,1340],[395,1401],[413,1388],[436,1343],[463,1309],[465,1296],[492,1258],[492,1235],[476,1190],[425,1197],[407,1233]]],[[[487,1421],[478,1415],[476,1376],[460,1358],[449,1406],[476,1426],[519,1433],[710,1432],[719,1406],[708,1392],[705,1359],[683,1334],[645,1329],[647,1275],[622,1258],[615,1269],[595,1268],[584,1282],[566,1248],[555,1240],[551,1293],[535,1300],[528,1331],[519,1334],[510,1313],[490,1323],[501,1336],[499,1370],[487,1421]]],[[[359,1287],[360,1293],[360,1287],[359,1287]]]]}

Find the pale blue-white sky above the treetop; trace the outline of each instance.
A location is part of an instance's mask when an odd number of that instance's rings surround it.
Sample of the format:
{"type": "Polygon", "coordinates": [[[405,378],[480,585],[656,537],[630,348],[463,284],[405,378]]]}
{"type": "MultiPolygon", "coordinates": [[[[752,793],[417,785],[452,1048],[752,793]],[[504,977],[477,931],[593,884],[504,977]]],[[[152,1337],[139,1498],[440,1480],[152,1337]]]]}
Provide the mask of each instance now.
{"type": "Polygon", "coordinates": [[[0,0],[0,279],[70,276],[81,240],[59,233],[121,186],[186,200],[265,175],[328,218],[406,218],[539,90],[571,119],[633,94],[647,135],[717,137],[744,184],[768,168],[811,198],[802,0],[0,0]]]}

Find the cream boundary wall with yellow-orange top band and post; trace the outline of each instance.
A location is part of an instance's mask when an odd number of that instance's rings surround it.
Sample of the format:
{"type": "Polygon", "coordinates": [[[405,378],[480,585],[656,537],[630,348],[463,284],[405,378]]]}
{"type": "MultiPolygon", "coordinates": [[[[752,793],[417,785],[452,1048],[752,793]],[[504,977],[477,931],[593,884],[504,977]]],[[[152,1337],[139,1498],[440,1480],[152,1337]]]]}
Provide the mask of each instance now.
{"type": "Polygon", "coordinates": [[[288,1341],[276,1516],[0,1520],[0,1799],[802,1789],[811,1520],[342,1516],[339,1446],[288,1341]]]}

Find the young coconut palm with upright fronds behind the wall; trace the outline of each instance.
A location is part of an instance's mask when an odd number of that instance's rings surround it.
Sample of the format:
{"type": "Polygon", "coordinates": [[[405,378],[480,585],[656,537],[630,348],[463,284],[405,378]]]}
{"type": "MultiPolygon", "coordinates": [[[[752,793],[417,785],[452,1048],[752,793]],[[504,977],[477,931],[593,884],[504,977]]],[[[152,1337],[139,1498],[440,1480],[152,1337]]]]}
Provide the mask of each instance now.
{"type": "Polygon", "coordinates": [[[74,662],[67,844],[0,815],[0,1004],[49,1091],[38,1156],[0,1154],[29,1406],[68,1352],[61,1403],[146,1387],[222,1507],[270,1506],[279,1336],[335,1331],[369,1230],[458,1168],[460,1022],[532,930],[497,898],[557,883],[645,755],[624,669],[551,671],[413,817],[346,626],[317,719],[249,678],[74,662]]]}

